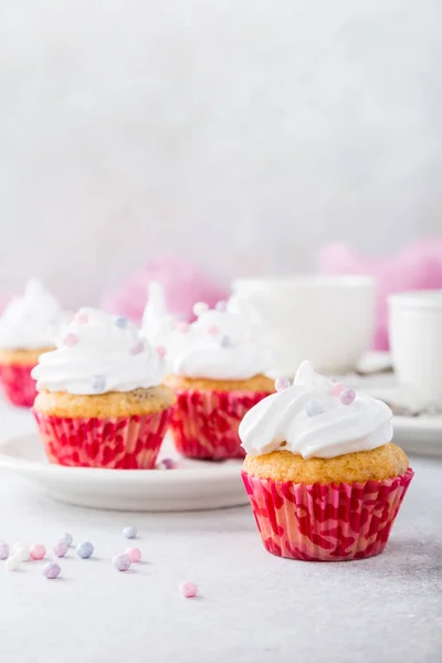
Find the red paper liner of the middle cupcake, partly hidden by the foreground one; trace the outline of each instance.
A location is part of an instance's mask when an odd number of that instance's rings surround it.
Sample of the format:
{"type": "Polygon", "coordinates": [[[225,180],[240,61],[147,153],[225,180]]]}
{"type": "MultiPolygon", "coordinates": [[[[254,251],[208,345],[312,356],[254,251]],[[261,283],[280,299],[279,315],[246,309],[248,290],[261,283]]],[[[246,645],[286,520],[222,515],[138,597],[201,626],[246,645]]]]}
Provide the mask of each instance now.
{"type": "Polygon", "coordinates": [[[179,453],[191,459],[244,457],[238,434],[244,414],[266,391],[178,390],[170,432],[179,453]]]}

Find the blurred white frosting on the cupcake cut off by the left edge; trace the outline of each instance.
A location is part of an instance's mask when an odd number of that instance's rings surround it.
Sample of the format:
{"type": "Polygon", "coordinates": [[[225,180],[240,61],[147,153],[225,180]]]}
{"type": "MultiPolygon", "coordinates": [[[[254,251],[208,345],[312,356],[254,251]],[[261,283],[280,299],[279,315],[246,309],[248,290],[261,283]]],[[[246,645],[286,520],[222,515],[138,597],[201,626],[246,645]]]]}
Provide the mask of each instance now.
{"type": "Polygon", "coordinates": [[[0,318],[0,347],[9,350],[38,350],[53,345],[51,327],[62,316],[59,302],[35,278],[24,294],[13,298],[0,318]]]}

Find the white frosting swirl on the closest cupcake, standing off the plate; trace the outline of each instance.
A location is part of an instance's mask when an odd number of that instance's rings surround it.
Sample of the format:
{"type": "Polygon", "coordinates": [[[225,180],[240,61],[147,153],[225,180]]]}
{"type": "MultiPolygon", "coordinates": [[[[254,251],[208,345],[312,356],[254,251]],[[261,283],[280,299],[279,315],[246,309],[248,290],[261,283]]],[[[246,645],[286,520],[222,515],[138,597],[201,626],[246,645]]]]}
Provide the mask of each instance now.
{"type": "MultiPolygon", "coordinates": [[[[277,385],[276,385],[277,387],[277,385]]],[[[365,393],[299,366],[292,386],[263,399],[240,424],[250,455],[291,451],[304,459],[330,459],[369,451],[392,439],[390,408],[365,393]]]]}

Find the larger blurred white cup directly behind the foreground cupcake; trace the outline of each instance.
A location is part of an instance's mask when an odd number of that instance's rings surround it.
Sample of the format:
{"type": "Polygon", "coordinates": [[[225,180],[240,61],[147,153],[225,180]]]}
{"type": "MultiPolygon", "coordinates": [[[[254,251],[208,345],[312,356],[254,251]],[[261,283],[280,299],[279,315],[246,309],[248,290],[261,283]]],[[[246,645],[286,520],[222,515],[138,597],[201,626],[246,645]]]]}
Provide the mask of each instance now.
{"type": "Polygon", "coordinates": [[[320,372],[344,373],[370,347],[376,281],[369,276],[239,278],[232,290],[232,301],[257,315],[273,345],[273,376],[294,376],[304,359],[320,372]]]}

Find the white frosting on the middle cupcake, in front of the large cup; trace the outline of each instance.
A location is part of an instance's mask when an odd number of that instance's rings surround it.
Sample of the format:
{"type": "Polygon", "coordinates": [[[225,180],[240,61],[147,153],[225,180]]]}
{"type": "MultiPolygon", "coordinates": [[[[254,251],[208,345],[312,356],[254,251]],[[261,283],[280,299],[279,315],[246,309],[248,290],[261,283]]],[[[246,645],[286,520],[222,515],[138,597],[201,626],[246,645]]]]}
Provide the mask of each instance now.
{"type": "Polygon", "coordinates": [[[248,380],[275,362],[259,324],[220,302],[209,309],[194,305],[198,319],[177,325],[168,344],[170,370],[176,376],[211,380],[248,380]]]}

